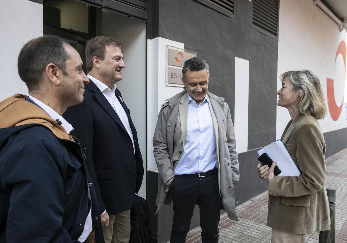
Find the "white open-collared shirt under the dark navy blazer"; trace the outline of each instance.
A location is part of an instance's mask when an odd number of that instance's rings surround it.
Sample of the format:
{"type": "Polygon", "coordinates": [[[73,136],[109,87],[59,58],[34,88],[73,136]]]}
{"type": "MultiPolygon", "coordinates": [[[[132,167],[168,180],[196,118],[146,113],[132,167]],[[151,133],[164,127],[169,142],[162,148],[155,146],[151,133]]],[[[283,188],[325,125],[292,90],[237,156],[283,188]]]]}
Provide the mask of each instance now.
{"type": "MultiPolygon", "coordinates": [[[[116,84],[113,84],[112,89],[110,89],[106,84],[102,83],[98,79],[94,78],[90,74],[87,75],[88,78],[90,78],[93,83],[98,86],[99,90],[102,92],[106,100],[110,103],[112,108],[116,111],[119,119],[121,120],[123,126],[128,132],[128,135],[131,138],[131,141],[133,142],[133,149],[134,149],[134,154],[135,154],[135,143],[134,143],[134,137],[133,137],[133,132],[131,131],[130,124],[129,124],[129,119],[128,116],[120,104],[119,100],[116,97],[115,90],[117,88],[116,84]]],[[[123,102],[122,98],[119,97],[119,99],[123,102]]]]}

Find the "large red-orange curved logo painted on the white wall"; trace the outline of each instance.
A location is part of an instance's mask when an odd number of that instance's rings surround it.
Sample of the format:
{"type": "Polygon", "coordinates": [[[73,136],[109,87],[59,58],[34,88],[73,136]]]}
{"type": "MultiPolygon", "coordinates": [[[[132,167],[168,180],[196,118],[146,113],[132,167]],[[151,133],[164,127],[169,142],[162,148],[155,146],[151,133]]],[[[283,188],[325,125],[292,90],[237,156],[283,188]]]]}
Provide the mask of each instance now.
{"type": "MultiPolygon", "coordinates": [[[[341,41],[337,51],[336,51],[336,56],[335,56],[335,64],[336,64],[336,59],[339,54],[342,55],[342,58],[344,59],[344,67],[345,67],[345,78],[347,77],[347,70],[346,70],[346,53],[347,53],[347,47],[346,47],[346,42],[341,41]]],[[[334,65],[335,67],[335,65],[334,65]]],[[[342,99],[342,104],[340,106],[337,106],[336,101],[335,101],[335,94],[334,94],[334,80],[331,78],[327,78],[327,97],[328,97],[328,108],[329,108],[329,113],[331,118],[336,121],[339,119],[341,110],[342,110],[342,105],[344,103],[344,100],[342,99]]],[[[345,97],[344,97],[345,98],[345,97]]]]}

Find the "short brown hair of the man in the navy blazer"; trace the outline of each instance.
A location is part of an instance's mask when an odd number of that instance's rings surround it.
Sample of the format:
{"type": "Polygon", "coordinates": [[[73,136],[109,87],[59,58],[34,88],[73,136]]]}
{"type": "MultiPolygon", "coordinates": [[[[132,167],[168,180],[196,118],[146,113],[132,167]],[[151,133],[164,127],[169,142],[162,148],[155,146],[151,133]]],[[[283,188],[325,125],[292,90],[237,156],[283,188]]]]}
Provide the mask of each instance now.
{"type": "Polygon", "coordinates": [[[93,57],[101,60],[105,59],[105,50],[107,45],[115,45],[121,48],[122,42],[108,36],[95,36],[86,44],[86,69],[87,73],[93,68],[93,57]]]}

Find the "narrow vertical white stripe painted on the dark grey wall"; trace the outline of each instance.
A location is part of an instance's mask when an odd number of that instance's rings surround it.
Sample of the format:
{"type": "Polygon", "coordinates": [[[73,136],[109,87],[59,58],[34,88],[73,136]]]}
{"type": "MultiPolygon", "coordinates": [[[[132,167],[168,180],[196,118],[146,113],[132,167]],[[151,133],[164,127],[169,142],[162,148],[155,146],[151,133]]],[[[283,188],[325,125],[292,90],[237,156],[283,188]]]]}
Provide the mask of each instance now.
{"type": "Polygon", "coordinates": [[[248,150],[249,61],[235,57],[235,136],[238,153],[248,150]]]}

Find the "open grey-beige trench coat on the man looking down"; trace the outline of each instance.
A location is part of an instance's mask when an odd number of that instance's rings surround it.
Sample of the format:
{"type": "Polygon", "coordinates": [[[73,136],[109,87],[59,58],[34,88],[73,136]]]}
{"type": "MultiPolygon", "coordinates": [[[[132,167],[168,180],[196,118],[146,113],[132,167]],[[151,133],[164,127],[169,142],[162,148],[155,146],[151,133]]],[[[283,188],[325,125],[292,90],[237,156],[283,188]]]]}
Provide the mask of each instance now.
{"type": "MultiPolygon", "coordinates": [[[[219,192],[223,198],[223,209],[230,219],[237,220],[232,184],[239,181],[235,132],[230,110],[224,98],[208,92],[208,100],[215,132],[219,192]]],[[[158,213],[163,203],[171,204],[169,184],[174,178],[174,169],[183,151],[187,133],[188,101],[183,91],[161,105],[154,137],[153,153],[161,181],[158,186],[156,204],[158,213]]]]}

